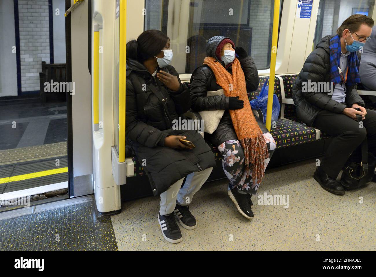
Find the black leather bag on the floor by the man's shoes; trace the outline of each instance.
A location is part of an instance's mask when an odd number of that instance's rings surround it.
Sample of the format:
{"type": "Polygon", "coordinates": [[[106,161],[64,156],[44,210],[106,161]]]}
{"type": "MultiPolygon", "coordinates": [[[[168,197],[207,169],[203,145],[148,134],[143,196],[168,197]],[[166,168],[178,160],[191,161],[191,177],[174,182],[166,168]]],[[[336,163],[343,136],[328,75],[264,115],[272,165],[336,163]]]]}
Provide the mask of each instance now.
{"type": "MultiPolygon", "coordinates": [[[[357,115],[358,122],[362,121],[362,116],[357,115]]],[[[341,184],[345,190],[359,189],[368,184],[374,175],[376,167],[376,158],[368,153],[367,137],[363,140],[361,163],[351,162],[346,166],[341,176],[341,184]]]]}

